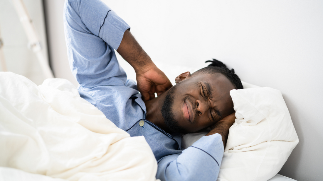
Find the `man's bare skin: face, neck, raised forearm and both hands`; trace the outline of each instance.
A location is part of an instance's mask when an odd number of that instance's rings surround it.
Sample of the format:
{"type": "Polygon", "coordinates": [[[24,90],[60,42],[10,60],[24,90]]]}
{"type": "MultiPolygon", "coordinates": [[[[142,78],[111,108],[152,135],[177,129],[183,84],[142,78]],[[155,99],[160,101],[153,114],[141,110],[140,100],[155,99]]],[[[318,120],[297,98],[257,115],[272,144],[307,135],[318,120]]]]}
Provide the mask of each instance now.
{"type": "MultiPolygon", "coordinates": [[[[161,113],[165,98],[169,95],[172,101],[167,105],[170,108],[167,111],[170,113],[169,121],[173,121],[173,125],[185,132],[195,132],[214,125],[208,135],[219,133],[225,146],[229,128],[235,117],[229,94],[234,86],[224,75],[191,75],[190,72],[184,72],[176,77],[176,85],[172,87],[166,75],[151,61],[129,30],[125,31],[117,52],[136,72],[138,90],[147,108],[146,119],[172,133],[172,129],[169,128],[172,124],[168,123],[167,126],[161,113]],[[169,91],[170,89],[172,91],[169,91]]],[[[166,99],[166,102],[168,101],[166,99]]]]}

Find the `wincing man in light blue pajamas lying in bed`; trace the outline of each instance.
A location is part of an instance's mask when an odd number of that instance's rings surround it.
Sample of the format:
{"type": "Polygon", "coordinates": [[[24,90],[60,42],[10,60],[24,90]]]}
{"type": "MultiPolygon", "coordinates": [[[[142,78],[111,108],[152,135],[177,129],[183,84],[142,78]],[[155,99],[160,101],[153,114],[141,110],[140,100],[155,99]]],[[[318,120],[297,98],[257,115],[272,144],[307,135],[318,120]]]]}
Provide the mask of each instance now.
{"type": "Polygon", "coordinates": [[[133,38],[130,26],[99,0],[67,0],[64,27],[81,97],[131,136],[146,138],[158,162],[156,178],[215,180],[235,118],[229,91],[242,88],[234,70],[210,66],[192,75],[185,72],[172,87],[133,38]],[[114,50],[136,71],[138,87],[127,80],[114,50]],[[181,150],[179,133],[211,125],[207,136],[181,150]]]}

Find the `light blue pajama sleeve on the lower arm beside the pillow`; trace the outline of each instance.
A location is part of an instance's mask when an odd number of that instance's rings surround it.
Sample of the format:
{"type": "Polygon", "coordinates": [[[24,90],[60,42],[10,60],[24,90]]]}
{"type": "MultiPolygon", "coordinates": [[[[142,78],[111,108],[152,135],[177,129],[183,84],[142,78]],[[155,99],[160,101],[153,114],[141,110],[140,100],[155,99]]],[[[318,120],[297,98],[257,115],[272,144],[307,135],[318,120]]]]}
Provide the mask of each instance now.
{"type": "Polygon", "coordinates": [[[161,158],[156,178],[162,181],[216,180],[223,152],[220,134],[203,136],[181,154],[161,158]]]}

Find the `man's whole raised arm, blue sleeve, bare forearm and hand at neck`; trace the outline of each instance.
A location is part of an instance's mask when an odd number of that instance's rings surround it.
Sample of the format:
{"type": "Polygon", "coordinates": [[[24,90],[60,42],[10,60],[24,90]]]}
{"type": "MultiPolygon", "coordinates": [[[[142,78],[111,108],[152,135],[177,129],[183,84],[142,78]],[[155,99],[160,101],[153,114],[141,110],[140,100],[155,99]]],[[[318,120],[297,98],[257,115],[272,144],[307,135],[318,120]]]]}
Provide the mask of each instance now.
{"type": "Polygon", "coordinates": [[[130,26],[99,0],[66,0],[64,30],[68,60],[81,86],[124,86],[126,73],[120,68],[115,52],[132,65],[137,74],[138,90],[149,100],[172,87],[171,82],[151,61],[127,31],[130,26]]]}

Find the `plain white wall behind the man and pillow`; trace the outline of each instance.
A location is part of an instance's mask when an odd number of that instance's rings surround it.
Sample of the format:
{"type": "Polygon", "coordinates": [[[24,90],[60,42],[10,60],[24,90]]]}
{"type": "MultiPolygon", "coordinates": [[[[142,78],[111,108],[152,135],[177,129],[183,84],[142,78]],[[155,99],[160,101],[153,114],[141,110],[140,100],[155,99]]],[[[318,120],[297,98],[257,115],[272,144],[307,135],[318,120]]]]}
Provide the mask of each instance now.
{"type": "MultiPolygon", "coordinates": [[[[75,81],[67,68],[63,0],[44,1],[50,7],[48,34],[55,75],[75,81]]],[[[299,181],[322,180],[323,1],[104,2],[131,26],[173,83],[175,75],[216,58],[234,68],[243,81],[281,90],[299,144],[280,174],[299,181]]],[[[120,62],[133,76],[129,64],[120,62]]]]}

